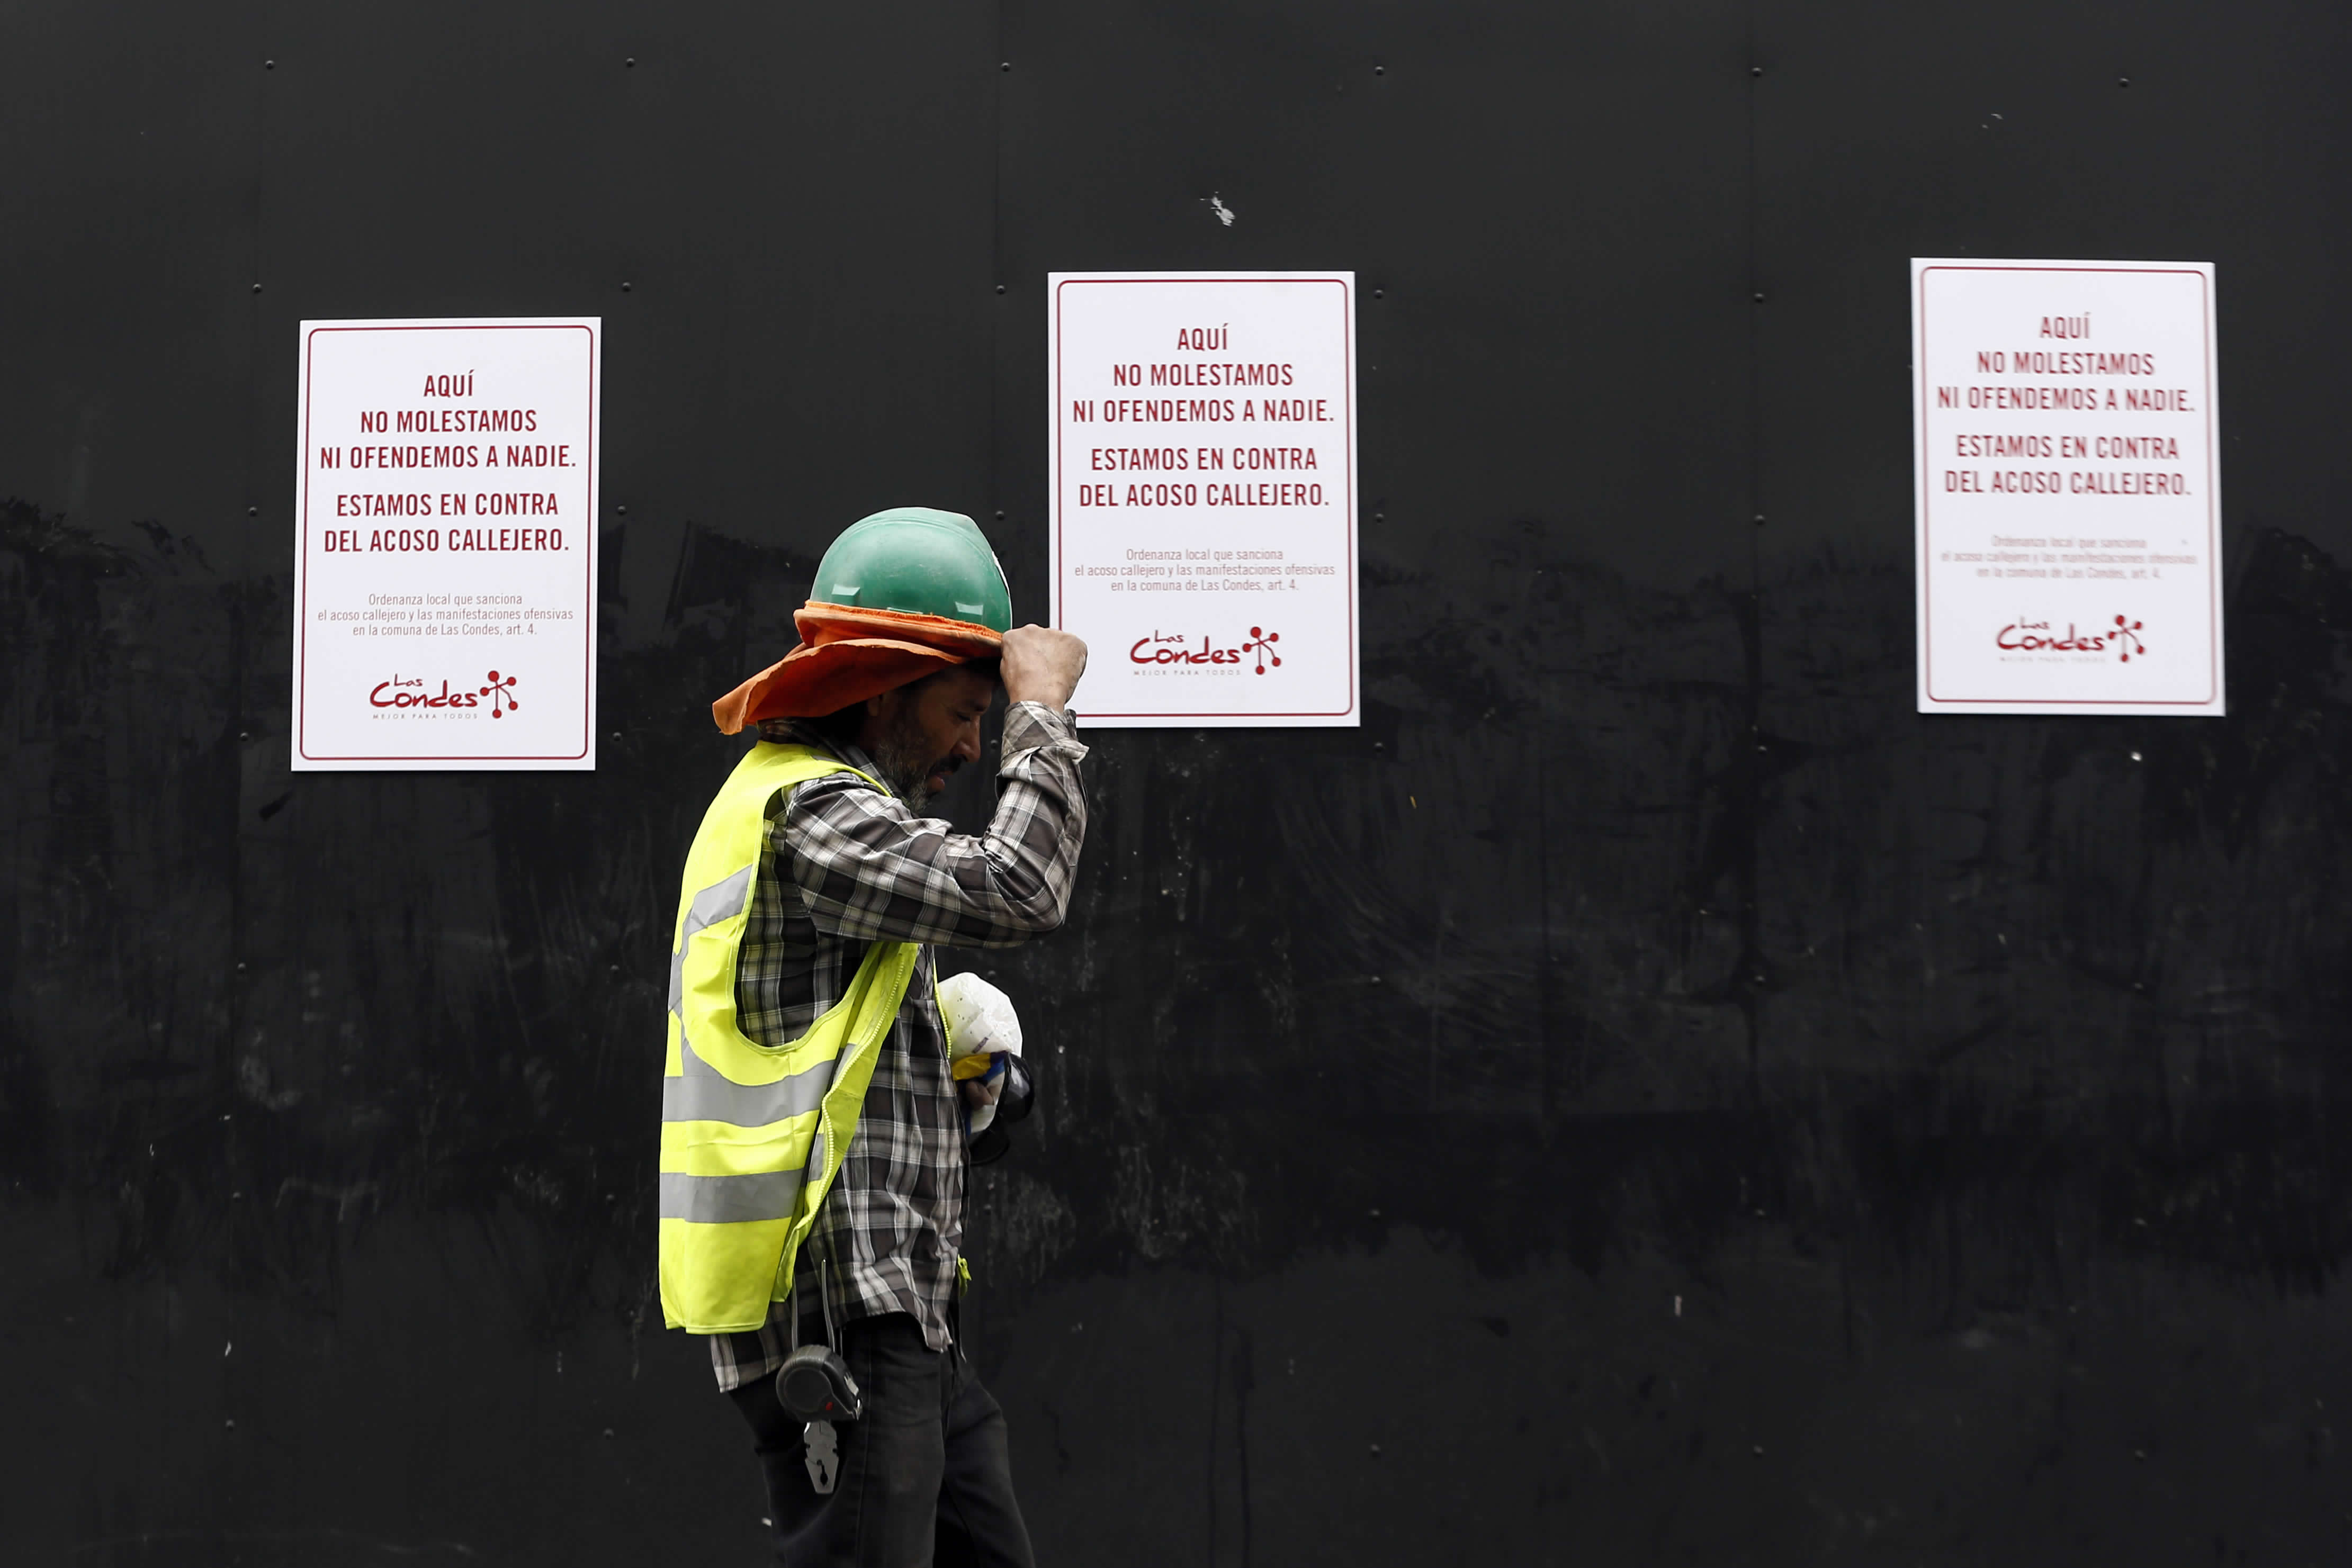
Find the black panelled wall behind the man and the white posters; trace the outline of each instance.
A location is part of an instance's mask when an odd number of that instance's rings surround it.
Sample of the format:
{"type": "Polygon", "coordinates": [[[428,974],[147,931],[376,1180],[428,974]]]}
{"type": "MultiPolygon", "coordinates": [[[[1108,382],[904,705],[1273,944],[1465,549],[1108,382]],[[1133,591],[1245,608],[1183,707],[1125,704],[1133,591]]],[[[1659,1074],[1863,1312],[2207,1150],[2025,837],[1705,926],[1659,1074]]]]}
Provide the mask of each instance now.
{"type": "Polygon", "coordinates": [[[1070,929],[983,964],[1044,1556],[2345,1561],[2345,7],[0,61],[7,1561],[755,1561],[649,1269],[706,705],[880,505],[1042,614],[1044,273],[1211,266],[1367,289],[1367,724],[1094,733],[1070,929]],[[1915,254],[2218,263],[2227,719],[1912,712],[1915,254]],[[607,322],[602,766],[296,780],[296,322],[503,313],[607,322]]]}

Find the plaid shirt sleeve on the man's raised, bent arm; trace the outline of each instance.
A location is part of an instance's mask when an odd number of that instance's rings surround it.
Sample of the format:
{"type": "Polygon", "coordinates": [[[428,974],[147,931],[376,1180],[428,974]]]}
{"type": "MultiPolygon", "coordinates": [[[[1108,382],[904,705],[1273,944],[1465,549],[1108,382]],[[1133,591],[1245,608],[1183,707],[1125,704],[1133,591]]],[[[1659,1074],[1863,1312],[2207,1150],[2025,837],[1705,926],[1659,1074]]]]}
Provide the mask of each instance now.
{"type": "Polygon", "coordinates": [[[1011,947],[1056,929],[1087,839],[1084,757],[1065,715],[1014,703],[983,835],[915,816],[854,773],[800,785],[781,830],[809,919],[833,936],[943,947],[1011,947]]]}

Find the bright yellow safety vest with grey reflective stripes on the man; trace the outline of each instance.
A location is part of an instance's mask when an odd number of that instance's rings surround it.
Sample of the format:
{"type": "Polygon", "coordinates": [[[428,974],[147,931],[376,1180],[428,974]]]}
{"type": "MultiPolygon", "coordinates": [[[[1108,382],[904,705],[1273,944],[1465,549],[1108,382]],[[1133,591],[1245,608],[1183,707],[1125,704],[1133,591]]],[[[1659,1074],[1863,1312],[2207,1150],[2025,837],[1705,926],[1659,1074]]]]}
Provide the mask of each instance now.
{"type": "Polygon", "coordinates": [[[736,959],[767,806],[779,790],[826,773],[858,771],[807,745],[755,745],[687,851],[661,1079],[661,1316],[670,1328],[741,1333],[767,1321],[771,1300],[790,1298],[793,1260],[842,1168],[882,1037],[915,978],[915,943],[875,943],[807,1034],[783,1046],[743,1034],[736,959]]]}

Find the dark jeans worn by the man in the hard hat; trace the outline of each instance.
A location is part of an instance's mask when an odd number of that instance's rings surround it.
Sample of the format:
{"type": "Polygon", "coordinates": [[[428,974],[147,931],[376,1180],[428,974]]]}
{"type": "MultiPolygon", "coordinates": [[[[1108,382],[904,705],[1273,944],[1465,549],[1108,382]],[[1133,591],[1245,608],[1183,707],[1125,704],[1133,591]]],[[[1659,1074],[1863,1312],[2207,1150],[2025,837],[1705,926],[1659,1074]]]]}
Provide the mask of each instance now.
{"type": "Polygon", "coordinates": [[[1014,1502],[1004,1410],[960,1347],[922,1342],[903,1312],[842,1326],[866,1415],[835,1427],[840,1474],[818,1495],[776,1380],[729,1394],[750,1422],[783,1568],[1035,1568],[1014,1502]]]}

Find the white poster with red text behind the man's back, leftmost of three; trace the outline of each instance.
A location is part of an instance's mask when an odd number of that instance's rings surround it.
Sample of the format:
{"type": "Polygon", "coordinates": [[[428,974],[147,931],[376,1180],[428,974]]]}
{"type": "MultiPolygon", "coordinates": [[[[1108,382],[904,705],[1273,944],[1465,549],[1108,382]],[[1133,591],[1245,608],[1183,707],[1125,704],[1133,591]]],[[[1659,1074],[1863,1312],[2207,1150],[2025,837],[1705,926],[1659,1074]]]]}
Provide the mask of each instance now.
{"type": "Polygon", "coordinates": [[[294,771],[593,769],[602,322],[303,322],[294,771]]]}

